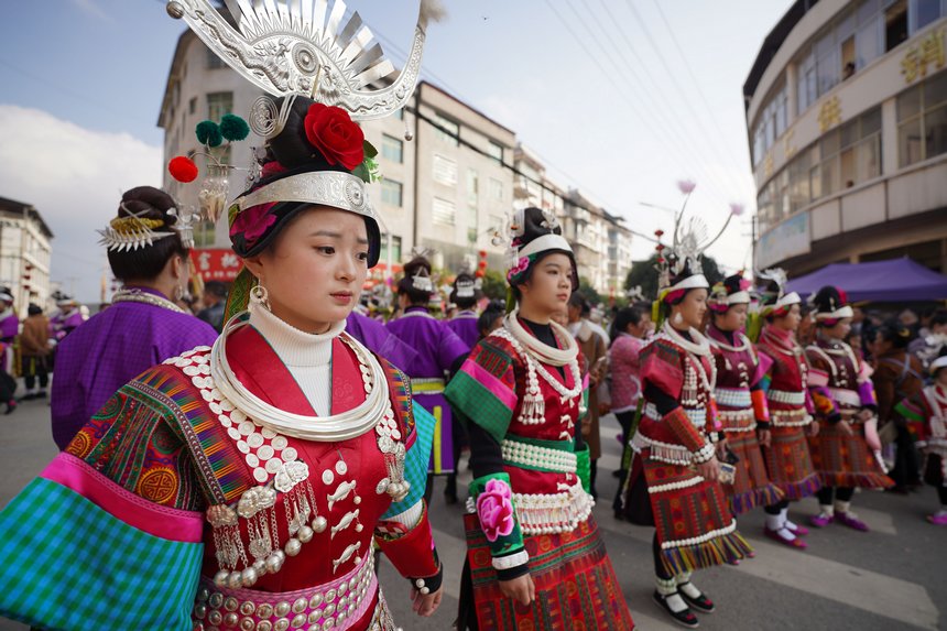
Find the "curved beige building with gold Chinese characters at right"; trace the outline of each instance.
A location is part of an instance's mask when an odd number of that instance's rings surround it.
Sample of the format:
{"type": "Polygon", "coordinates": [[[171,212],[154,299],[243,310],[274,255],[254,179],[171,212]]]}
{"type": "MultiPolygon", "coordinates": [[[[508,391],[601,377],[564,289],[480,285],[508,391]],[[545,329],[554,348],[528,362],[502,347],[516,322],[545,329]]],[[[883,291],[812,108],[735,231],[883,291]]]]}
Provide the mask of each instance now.
{"type": "Polygon", "coordinates": [[[947,271],[947,0],[798,0],[743,95],[758,268],[947,271]]]}

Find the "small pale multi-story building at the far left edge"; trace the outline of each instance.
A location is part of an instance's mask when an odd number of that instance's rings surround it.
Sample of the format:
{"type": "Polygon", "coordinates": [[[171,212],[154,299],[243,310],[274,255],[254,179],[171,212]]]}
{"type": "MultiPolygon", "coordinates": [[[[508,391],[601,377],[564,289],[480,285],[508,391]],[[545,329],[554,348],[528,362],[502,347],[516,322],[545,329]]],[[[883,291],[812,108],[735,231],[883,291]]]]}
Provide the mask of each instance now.
{"type": "Polygon", "coordinates": [[[46,303],[53,232],[32,205],[0,197],[0,285],[9,287],[21,317],[30,303],[46,303]]]}

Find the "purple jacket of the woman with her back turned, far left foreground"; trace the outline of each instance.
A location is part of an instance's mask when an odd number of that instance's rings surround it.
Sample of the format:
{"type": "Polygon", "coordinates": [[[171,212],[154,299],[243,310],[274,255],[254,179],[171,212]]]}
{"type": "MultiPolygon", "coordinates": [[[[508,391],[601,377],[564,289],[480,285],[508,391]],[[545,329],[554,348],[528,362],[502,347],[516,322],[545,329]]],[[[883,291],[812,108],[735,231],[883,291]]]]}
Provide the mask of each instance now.
{"type": "Polygon", "coordinates": [[[215,339],[217,331],[207,323],[155,305],[120,302],[96,314],[56,348],[51,398],[56,445],[65,449],[134,377],[168,357],[211,346],[215,339]]]}

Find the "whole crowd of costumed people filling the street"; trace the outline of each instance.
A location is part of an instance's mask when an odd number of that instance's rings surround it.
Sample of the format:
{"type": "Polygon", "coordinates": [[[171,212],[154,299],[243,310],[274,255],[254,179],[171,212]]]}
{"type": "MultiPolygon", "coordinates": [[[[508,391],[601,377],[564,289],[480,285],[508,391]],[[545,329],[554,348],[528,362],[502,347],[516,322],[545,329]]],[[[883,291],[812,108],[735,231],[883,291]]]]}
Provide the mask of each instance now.
{"type": "MultiPolygon", "coordinates": [[[[214,15],[188,24],[226,31],[214,15]]],[[[237,64],[229,32],[220,50],[237,64]]],[[[315,58],[292,50],[296,66],[315,58]]],[[[631,630],[617,573],[639,570],[613,566],[592,513],[612,413],[624,447],[614,518],[653,529],[652,599],[687,628],[717,608],[694,574],[754,556],[738,530],[748,511],[802,552],[809,531],[791,502],[817,498],[809,527],[863,532],[856,489],[923,479],[941,504],[930,523],[947,523],[947,312],[912,330],[907,314],[862,313],[843,287],[803,301],[780,270],[755,289],[742,274],[711,284],[709,243],[682,210],[653,302],[596,317],[556,216],[529,207],[494,235],[505,301],[469,271],[440,295],[418,252],[380,320],[359,307],[382,237],[367,192],[377,151],[356,120],[393,113],[412,86],[323,95],[347,109],[314,98],[318,80],[285,85],[305,89],[259,101],[263,146],[246,191],[216,210],[242,261],[229,286],[188,298],[194,218],[140,186],[100,231],[121,282],[107,308],[86,319],[59,296],[48,322],[31,305],[21,330],[0,292],[0,400],[15,406],[19,373],[43,398],[52,370],[61,449],[0,512],[0,614],[37,629],[390,631],[384,556],[420,616],[456,581],[460,630],[631,630]],[[444,575],[431,527],[445,510],[437,476],[445,503],[465,509],[460,576],[444,575]]],[[[229,167],[211,149],[249,131],[228,113],[196,135],[229,167]]],[[[198,175],[186,156],[170,172],[198,175]]]]}

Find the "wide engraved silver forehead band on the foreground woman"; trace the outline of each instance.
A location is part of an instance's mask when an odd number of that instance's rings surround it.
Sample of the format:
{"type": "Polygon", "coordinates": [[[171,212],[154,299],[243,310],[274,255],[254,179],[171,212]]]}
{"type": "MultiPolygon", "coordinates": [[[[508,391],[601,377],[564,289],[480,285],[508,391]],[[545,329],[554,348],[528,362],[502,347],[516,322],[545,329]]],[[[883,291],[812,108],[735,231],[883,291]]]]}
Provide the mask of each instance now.
{"type": "Polygon", "coordinates": [[[274,202],[330,206],[375,219],[364,182],[349,173],[319,171],[291,175],[244,195],[233,203],[237,204],[238,211],[242,213],[247,208],[274,202]]]}

